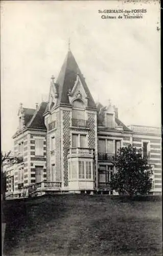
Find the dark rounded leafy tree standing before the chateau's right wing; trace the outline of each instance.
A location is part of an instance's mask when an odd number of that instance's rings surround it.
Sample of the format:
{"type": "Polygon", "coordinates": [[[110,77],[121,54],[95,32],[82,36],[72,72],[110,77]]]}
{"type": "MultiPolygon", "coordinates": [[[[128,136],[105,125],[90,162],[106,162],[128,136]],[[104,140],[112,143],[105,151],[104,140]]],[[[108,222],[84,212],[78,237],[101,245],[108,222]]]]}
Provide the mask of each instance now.
{"type": "Polygon", "coordinates": [[[132,145],[120,148],[115,160],[118,170],[111,177],[110,188],[119,194],[130,196],[147,194],[152,187],[151,168],[147,157],[142,156],[142,150],[137,150],[132,145]]]}

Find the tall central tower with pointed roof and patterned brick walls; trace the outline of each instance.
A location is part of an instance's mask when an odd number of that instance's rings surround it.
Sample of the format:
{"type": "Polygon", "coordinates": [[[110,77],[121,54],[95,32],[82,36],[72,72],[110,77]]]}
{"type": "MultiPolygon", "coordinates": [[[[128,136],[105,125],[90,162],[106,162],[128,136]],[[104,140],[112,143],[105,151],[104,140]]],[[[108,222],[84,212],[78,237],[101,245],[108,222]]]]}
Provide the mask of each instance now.
{"type": "Polygon", "coordinates": [[[51,80],[44,113],[47,128],[47,179],[63,190],[94,190],[97,169],[97,108],[73,53],[51,80]]]}

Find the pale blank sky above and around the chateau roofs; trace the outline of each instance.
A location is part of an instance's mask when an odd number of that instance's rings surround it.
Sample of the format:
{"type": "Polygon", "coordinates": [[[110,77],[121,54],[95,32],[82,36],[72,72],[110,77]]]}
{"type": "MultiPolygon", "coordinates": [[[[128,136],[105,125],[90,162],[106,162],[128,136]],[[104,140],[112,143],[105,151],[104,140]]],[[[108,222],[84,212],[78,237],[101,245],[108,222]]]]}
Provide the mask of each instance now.
{"type": "Polygon", "coordinates": [[[95,101],[126,125],[160,126],[158,1],[2,1],[2,150],[13,146],[19,103],[35,108],[71,50],[95,101]],[[143,19],[102,19],[99,9],[147,9],[143,19]]]}

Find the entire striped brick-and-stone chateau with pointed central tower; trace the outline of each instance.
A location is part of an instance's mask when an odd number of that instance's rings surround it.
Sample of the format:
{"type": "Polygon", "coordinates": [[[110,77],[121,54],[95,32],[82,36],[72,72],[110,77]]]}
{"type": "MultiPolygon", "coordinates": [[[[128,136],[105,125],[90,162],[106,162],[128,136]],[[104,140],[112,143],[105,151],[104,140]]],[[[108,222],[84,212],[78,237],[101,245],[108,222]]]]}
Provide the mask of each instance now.
{"type": "Polygon", "coordinates": [[[6,198],[45,193],[107,193],[116,172],[113,157],[122,146],[143,148],[153,168],[154,194],[161,193],[160,129],[126,126],[111,103],[95,103],[68,50],[48,102],[18,111],[14,155],[7,168],[6,198]]]}

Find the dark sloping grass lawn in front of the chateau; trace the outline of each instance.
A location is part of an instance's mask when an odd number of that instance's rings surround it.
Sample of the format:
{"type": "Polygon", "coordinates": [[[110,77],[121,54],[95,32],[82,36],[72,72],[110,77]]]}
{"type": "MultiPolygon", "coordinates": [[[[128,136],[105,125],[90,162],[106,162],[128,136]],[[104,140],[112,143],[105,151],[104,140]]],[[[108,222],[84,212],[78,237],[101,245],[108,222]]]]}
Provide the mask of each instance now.
{"type": "Polygon", "coordinates": [[[162,255],[161,202],[154,199],[56,195],[3,208],[3,255],[162,255]]]}

